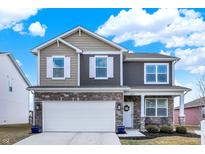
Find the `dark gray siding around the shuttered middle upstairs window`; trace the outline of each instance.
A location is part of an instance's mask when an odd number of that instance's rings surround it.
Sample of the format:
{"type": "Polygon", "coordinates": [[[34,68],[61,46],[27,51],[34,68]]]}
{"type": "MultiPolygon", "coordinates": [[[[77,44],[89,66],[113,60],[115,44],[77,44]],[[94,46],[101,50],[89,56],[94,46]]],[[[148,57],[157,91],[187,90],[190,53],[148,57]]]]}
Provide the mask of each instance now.
{"type": "Polygon", "coordinates": [[[80,56],[80,85],[81,86],[119,86],[120,85],[120,55],[108,55],[113,57],[114,78],[108,80],[95,80],[89,78],[89,57],[95,55],[80,56]]]}

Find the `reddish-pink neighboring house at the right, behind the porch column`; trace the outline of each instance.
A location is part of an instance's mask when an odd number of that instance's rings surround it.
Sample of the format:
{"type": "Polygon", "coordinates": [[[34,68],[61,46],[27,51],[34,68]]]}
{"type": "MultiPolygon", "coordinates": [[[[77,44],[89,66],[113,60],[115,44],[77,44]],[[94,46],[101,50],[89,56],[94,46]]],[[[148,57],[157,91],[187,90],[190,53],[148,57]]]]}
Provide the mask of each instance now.
{"type": "MultiPolygon", "coordinates": [[[[205,97],[184,104],[185,125],[200,125],[205,119],[205,97]]],[[[175,124],[178,125],[179,107],[175,108],[175,124]]]]}

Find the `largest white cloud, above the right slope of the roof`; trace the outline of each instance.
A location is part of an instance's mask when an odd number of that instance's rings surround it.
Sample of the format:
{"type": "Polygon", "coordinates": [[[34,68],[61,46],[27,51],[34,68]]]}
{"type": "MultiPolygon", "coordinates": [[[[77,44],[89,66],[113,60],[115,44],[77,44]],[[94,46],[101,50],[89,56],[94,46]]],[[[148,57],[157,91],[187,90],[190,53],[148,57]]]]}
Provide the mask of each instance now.
{"type": "Polygon", "coordinates": [[[153,14],[143,9],[122,10],[96,32],[113,36],[117,43],[133,40],[135,46],[154,42],[167,48],[205,46],[205,22],[200,13],[187,9],[159,9],[153,14]]]}

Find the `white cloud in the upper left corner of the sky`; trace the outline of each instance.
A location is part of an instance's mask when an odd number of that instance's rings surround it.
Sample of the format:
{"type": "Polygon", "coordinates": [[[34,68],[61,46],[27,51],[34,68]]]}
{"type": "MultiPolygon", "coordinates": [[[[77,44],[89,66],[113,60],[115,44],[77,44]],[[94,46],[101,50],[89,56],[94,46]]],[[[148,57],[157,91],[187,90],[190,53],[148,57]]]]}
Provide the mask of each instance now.
{"type": "Polygon", "coordinates": [[[36,15],[38,9],[0,8],[0,30],[15,27],[15,25],[31,16],[36,15]]]}

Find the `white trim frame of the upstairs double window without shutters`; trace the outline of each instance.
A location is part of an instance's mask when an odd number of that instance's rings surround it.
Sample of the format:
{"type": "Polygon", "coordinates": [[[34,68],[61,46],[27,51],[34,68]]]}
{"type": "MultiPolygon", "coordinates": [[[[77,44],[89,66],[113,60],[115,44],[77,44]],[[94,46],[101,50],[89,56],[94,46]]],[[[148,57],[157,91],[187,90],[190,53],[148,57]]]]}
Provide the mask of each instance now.
{"type": "Polygon", "coordinates": [[[144,63],[144,84],[169,84],[169,63],[144,63]],[[155,76],[156,76],[156,81],[155,82],[147,82],[146,78],[147,78],[147,73],[146,73],[146,66],[147,65],[155,65],[156,66],[156,72],[155,72],[155,76]],[[157,78],[157,66],[158,65],[166,65],[167,66],[167,81],[166,82],[158,82],[158,78],[157,78]]]}

